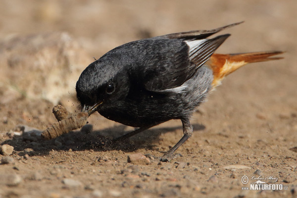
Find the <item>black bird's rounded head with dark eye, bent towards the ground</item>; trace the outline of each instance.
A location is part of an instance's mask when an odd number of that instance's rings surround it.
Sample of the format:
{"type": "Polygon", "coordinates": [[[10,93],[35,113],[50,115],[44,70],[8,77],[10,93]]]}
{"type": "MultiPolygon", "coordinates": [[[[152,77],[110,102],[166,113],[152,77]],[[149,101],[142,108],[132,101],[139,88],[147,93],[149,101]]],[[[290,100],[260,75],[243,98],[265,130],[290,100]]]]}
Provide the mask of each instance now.
{"type": "Polygon", "coordinates": [[[76,83],[76,95],[89,115],[124,99],[130,88],[129,75],[118,61],[99,59],[91,63],[76,83]]]}

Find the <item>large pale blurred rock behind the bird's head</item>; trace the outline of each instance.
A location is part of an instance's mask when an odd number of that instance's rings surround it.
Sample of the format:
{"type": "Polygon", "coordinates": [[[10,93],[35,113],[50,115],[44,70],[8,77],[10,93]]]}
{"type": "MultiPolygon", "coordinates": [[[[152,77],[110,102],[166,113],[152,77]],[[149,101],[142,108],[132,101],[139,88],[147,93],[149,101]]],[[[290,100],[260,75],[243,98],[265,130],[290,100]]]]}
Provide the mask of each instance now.
{"type": "Polygon", "coordinates": [[[0,103],[23,95],[57,103],[75,92],[75,82],[90,62],[87,52],[64,32],[15,35],[0,46],[0,103]]]}

